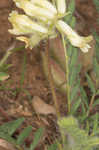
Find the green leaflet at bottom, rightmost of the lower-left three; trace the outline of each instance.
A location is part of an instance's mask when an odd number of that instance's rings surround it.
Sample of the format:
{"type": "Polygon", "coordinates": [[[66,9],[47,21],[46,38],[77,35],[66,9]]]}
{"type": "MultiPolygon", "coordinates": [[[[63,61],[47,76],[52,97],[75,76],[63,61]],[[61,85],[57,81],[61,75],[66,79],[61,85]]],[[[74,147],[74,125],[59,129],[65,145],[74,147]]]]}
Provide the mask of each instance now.
{"type": "Polygon", "coordinates": [[[43,135],[43,128],[39,128],[38,130],[37,130],[37,132],[35,133],[35,135],[34,135],[34,139],[33,139],[33,142],[32,142],[32,144],[30,145],[30,148],[29,148],[29,150],[34,150],[35,149],[35,147],[37,146],[37,144],[39,143],[39,141],[40,141],[40,139],[41,139],[41,137],[42,137],[42,135],[43,135]]]}

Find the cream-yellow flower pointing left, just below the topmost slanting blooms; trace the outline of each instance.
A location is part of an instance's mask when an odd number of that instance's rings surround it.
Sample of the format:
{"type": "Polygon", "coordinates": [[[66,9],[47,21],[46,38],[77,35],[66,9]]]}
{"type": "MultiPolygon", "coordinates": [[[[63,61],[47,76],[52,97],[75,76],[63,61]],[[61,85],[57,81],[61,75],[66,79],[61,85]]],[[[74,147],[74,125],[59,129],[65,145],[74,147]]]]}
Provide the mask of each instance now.
{"type": "Polygon", "coordinates": [[[13,25],[13,29],[9,30],[12,34],[25,35],[33,34],[33,32],[48,33],[47,28],[33,22],[28,16],[18,14],[17,11],[12,11],[8,19],[13,25]]]}

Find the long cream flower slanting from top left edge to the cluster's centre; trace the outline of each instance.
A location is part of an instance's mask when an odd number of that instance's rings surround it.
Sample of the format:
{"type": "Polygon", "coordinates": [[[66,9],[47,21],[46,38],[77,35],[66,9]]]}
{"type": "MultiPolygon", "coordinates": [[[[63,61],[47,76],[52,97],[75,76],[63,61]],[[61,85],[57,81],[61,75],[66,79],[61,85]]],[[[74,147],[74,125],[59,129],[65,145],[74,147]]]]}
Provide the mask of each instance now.
{"type": "Polygon", "coordinates": [[[28,0],[14,0],[16,6],[22,8],[25,13],[31,17],[45,17],[46,19],[54,19],[55,14],[47,9],[34,5],[33,2],[28,0]]]}

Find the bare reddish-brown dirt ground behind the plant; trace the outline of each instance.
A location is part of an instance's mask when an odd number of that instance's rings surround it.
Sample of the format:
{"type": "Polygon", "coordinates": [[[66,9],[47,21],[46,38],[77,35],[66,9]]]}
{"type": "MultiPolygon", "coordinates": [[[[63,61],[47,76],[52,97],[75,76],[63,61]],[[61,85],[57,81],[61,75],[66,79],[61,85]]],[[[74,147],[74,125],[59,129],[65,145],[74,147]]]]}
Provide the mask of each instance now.
{"type": "MultiPolygon", "coordinates": [[[[13,9],[15,9],[15,5],[12,0],[0,1],[0,58],[13,45],[15,47],[24,45],[8,33],[8,29],[11,28],[8,15],[13,9]]],[[[84,35],[88,35],[93,29],[99,33],[99,26],[96,21],[99,16],[92,0],[76,0],[75,16],[79,23],[81,21],[84,23],[82,31],[84,35]]],[[[39,118],[30,104],[30,99],[36,97],[53,106],[52,94],[42,71],[42,63],[37,48],[16,52],[9,57],[7,63],[12,64],[12,66],[8,69],[10,78],[0,83],[1,87],[4,87],[0,89],[0,124],[24,116],[26,118],[25,126],[31,124],[33,131],[40,126],[46,127],[45,139],[51,143],[54,138],[53,131],[57,132],[54,124],[56,119],[54,111],[51,109],[52,115],[45,113],[43,117],[39,118]],[[23,81],[21,79],[22,72],[24,72],[23,81]],[[20,82],[22,82],[22,87],[20,82]],[[24,90],[19,90],[20,88],[24,90]]],[[[64,115],[66,113],[66,98],[61,93],[56,93],[61,115],[64,115]]],[[[39,105],[38,107],[42,106],[39,105]]]]}

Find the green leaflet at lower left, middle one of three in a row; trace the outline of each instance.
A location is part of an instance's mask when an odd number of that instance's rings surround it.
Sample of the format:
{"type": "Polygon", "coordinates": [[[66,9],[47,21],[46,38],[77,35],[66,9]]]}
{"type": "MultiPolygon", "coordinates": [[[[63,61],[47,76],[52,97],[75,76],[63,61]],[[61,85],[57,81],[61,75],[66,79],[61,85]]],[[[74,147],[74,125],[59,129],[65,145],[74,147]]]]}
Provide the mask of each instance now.
{"type": "Polygon", "coordinates": [[[24,140],[29,136],[29,134],[32,131],[32,126],[28,126],[27,128],[25,128],[21,134],[18,136],[17,138],[17,144],[18,145],[22,145],[24,140]]]}

